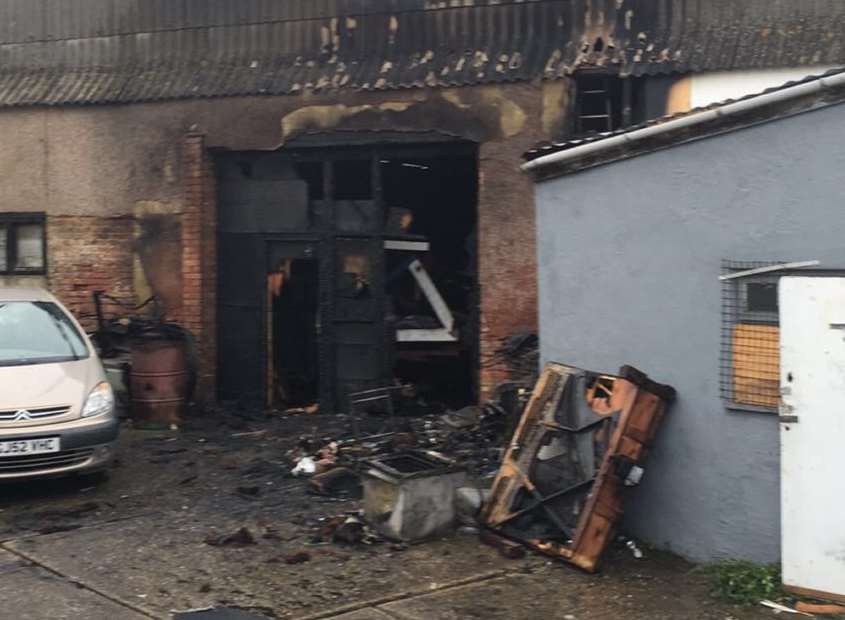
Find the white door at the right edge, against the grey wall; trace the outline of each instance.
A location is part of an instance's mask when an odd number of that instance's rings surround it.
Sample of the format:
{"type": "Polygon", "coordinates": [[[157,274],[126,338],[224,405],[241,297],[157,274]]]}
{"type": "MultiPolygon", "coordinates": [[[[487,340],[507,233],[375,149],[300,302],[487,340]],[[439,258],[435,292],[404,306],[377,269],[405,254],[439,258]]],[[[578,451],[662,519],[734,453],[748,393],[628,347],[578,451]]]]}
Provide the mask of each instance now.
{"type": "Polygon", "coordinates": [[[783,582],[845,599],[845,278],[780,280],[783,582]]]}

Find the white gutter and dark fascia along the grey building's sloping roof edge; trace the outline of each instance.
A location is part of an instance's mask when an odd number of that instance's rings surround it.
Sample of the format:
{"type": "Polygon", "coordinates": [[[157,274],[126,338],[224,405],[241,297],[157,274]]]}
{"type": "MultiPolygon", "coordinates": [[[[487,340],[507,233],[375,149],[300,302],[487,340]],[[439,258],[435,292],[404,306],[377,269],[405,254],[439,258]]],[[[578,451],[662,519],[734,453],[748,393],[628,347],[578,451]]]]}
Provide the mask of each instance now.
{"type": "MultiPolygon", "coordinates": [[[[544,169],[547,168],[560,168],[566,164],[571,164],[581,159],[609,153],[614,149],[635,147],[638,143],[641,143],[649,138],[654,138],[655,136],[668,134],[682,129],[689,129],[719,118],[738,116],[746,112],[759,110],[767,106],[776,105],[778,103],[797,99],[799,97],[805,97],[807,95],[818,94],[829,89],[843,86],[845,86],[845,72],[825,75],[794,86],[787,86],[785,88],[780,88],[753,97],[747,97],[739,101],[725,103],[700,112],[694,112],[679,118],[670,119],[665,122],[648,125],[639,129],[632,129],[624,133],[587,142],[586,144],[574,146],[566,150],[555,151],[554,153],[543,155],[525,162],[520,166],[520,169],[523,172],[535,175],[535,177],[542,176],[542,179],[538,180],[547,180],[555,176],[561,176],[554,173],[544,174],[544,169]]],[[[603,161],[602,163],[610,163],[616,159],[619,158],[609,159],[607,161],[603,161]]]]}

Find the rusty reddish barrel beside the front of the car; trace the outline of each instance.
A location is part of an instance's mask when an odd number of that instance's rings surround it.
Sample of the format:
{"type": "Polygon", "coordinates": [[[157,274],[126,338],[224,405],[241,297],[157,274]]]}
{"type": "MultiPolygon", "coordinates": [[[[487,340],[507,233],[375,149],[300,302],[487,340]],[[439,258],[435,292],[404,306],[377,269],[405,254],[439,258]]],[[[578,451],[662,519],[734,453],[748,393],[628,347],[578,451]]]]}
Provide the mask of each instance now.
{"type": "Polygon", "coordinates": [[[181,426],[188,399],[188,376],[183,340],[133,342],[129,386],[135,426],[148,429],[181,426]]]}

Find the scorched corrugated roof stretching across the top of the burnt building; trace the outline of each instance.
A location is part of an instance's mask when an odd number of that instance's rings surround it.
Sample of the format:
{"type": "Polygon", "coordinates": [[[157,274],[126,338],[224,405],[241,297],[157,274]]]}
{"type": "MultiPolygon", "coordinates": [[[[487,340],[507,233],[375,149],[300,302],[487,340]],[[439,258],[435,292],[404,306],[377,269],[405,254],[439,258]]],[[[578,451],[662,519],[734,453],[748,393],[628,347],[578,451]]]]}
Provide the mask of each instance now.
{"type": "Polygon", "coordinates": [[[0,106],[845,64],[839,0],[3,0],[0,106]]]}

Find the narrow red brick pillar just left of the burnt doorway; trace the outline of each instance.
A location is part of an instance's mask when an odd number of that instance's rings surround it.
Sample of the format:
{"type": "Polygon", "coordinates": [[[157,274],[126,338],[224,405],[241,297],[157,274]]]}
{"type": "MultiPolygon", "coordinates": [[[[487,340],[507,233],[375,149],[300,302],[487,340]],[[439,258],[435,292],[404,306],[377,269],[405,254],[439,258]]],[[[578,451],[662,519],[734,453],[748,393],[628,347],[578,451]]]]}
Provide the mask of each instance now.
{"type": "Polygon", "coordinates": [[[213,401],[217,373],[217,196],[202,135],[183,144],[182,324],[197,340],[196,398],[213,401]]]}

